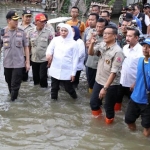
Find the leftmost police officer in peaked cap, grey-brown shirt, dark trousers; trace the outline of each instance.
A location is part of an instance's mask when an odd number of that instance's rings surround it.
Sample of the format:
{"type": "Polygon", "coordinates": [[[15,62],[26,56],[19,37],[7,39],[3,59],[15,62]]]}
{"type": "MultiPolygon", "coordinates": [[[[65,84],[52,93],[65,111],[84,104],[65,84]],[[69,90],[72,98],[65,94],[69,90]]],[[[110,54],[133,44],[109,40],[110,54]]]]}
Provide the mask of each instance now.
{"type": "Polygon", "coordinates": [[[30,69],[28,40],[26,33],[17,27],[19,18],[15,11],[9,11],[6,15],[8,25],[3,29],[2,35],[4,75],[12,101],[18,96],[23,67],[26,67],[27,71],[30,69]]]}

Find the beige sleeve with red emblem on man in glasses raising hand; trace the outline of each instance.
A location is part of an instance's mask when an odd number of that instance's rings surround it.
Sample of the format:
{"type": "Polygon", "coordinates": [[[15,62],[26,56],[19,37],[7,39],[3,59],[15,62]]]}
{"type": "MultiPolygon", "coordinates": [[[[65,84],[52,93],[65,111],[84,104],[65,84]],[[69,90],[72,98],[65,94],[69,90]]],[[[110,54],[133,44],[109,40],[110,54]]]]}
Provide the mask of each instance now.
{"type": "Polygon", "coordinates": [[[115,57],[114,57],[113,62],[112,62],[112,67],[111,67],[112,73],[117,73],[120,71],[124,58],[125,57],[124,57],[124,54],[122,51],[117,52],[115,54],[115,57]]]}

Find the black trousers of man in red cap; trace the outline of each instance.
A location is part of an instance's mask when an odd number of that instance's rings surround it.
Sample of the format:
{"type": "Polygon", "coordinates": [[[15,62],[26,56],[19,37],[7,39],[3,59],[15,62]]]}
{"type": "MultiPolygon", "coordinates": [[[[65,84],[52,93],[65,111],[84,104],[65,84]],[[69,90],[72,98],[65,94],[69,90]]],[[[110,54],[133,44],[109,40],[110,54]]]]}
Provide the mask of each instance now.
{"type": "Polygon", "coordinates": [[[47,64],[48,62],[36,63],[32,62],[32,72],[34,85],[40,84],[41,87],[47,88],[47,64]]]}

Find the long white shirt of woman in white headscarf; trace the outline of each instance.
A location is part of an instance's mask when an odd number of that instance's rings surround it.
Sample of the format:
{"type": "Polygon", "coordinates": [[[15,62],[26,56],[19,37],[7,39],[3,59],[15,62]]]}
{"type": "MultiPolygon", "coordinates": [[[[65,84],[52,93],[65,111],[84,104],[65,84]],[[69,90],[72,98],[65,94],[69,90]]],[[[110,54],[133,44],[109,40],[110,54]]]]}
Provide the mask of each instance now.
{"type": "Polygon", "coordinates": [[[70,80],[75,76],[79,58],[77,48],[76,41],[55,37],[46,51],[46,55],[53,55],[49,75],[58,80],[70,80]]]}

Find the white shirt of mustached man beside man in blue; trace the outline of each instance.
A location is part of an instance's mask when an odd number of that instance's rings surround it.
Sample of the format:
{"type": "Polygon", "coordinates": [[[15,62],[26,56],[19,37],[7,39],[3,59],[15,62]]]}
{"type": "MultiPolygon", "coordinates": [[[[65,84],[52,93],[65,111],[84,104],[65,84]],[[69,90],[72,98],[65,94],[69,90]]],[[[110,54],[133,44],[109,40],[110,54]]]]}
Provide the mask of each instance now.
{"type": "Polygon", "coordinates": [[[135,83],[137,65],[140,57],[143,57],[142,46],[137,43],[133,48],[129,48],[129,44],[123,47],[125,55],[121,69],[120,84],[124,87],[131,87],[135,83]]]}

